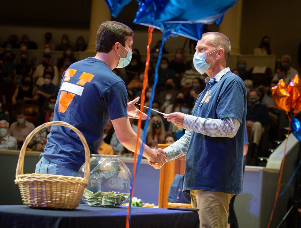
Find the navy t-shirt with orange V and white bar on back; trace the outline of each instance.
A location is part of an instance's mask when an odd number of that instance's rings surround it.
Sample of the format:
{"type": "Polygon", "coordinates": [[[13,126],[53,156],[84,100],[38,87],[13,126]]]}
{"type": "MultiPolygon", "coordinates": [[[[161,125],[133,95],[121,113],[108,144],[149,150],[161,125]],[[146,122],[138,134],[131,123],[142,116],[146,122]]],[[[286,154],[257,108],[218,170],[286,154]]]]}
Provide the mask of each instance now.
{"type": "MultiPolygon", "coordinates": [[[[64,72],[54,109],[54,121],[70,123],[85,136],[91,154],[97,154],[109,119],[127,117],[128,93],[124,81],[106,63],[89,57],[64,72]]],[[[70,128],[52,125],[40,157],[79,170],[85,152],[70,128]]]]}

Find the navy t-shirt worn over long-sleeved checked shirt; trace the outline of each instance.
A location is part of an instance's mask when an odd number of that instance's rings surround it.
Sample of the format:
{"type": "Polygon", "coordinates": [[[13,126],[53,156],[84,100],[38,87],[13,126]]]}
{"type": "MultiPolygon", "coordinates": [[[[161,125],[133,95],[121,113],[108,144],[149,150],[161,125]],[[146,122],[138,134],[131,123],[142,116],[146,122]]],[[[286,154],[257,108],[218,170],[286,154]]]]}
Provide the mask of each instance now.
{"type": "Polygon", "coordinates": [[[196,100],[192,115],[211,119],[234,117],[241,124],[233,138],[210,137],[191,131],[185,158],[183,191],[242,193],[246,112],[246,88],[235,74],[229,71],[220,81],[207,84],[196,100]],[[199,107],[208,90],[206,102],[199,107]]]}

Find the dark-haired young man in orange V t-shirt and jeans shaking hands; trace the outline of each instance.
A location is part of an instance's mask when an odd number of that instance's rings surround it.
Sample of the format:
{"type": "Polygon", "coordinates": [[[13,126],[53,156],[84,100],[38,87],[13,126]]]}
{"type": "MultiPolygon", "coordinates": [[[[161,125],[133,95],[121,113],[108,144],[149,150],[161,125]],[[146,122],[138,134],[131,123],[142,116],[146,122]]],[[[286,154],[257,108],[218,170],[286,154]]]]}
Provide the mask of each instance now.
{"type": "MultiPolygon", "coordinates": [[[[109,119],[123,146],[135,151],[137,135],[128,118],[140,117],[141,112],[135,107],[139,98],[127,103],[124,81],[112,72],[131,61],[132,36],[133,31],[124,24],[116,21],[102,23],[96,35],[96,55],[73,63],[62,76],[54,121],[70,123],[81,131],[91,154],[98,154],[109,119]]],[[[146,117],[143,113],[142,118],[146,117]]],[[[141,145],[139,140],[138,147],[141,145]]],[[[143,156],[158,167],[166,160],[163,154],[147,146],[143,156]]],[[[76,133],[52,125],[44,152],[36,165],[36,173],[77,176],[84,162],[84,148],[76,133]]]]}

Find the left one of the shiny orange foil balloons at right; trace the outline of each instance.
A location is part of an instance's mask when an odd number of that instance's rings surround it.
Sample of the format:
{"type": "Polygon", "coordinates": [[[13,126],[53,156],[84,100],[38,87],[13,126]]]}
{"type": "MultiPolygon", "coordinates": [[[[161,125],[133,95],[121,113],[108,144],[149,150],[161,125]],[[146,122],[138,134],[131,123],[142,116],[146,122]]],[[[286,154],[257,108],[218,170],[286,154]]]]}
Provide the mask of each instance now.
{"type": "Polygon", "coordinates": [[[285,84],[285,82],[282,79],[280,79],[277,86],[272,87],[272,97],[275,106],[278,109],[283,109],[286,112],[290,111],[290,94],[287,92],[287,84],[285,84]]]}

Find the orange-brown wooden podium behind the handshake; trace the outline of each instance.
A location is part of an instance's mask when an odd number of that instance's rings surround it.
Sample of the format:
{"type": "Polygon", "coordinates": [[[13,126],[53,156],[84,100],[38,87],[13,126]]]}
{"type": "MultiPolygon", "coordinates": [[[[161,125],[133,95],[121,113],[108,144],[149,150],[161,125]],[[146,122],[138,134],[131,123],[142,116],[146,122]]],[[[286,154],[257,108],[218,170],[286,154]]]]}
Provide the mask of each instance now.
{"type": "MultiPolygon", "coordinates": [[[[158,147],[164,149],[168,147],[169,144],[158,144],[158,147]]],[[[166,163],[160,169],[160,182],[159,182],[159,208],[167,208],[167,197],[169,188],[172,184],[173,179],[176,174],[184,175],[185,168],[185,156],[166,163]]]]}

